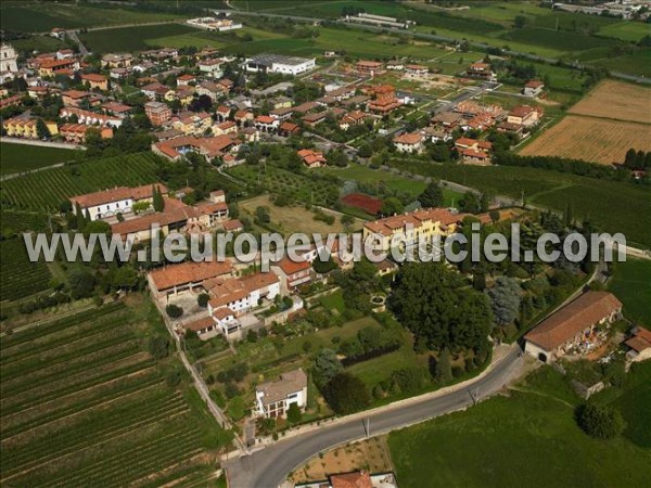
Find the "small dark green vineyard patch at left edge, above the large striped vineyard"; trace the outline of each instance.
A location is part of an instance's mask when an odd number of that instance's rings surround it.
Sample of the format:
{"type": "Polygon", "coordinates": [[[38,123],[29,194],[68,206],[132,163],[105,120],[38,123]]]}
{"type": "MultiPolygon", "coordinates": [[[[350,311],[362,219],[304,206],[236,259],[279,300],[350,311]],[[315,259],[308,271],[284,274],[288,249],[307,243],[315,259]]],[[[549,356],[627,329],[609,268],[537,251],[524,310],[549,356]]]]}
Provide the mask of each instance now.
{"type": "Polygon", "coordinates": [[[0,242],[0,301],[15,300],[48,288],[51,279],[48,265],[30,262],[22,239],[0,242]]]}

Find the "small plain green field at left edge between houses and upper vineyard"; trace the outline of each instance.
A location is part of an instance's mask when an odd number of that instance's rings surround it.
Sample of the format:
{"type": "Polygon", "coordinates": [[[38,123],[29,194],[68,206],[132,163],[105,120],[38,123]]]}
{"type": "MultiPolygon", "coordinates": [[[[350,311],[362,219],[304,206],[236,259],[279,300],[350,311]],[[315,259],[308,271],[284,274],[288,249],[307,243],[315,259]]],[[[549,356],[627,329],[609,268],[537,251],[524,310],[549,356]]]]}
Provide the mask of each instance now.
{"type": "Polygon", "coordinates": [[[29,171],[74,158],[74,150],[0,142],[1,175],[29,171]]]}

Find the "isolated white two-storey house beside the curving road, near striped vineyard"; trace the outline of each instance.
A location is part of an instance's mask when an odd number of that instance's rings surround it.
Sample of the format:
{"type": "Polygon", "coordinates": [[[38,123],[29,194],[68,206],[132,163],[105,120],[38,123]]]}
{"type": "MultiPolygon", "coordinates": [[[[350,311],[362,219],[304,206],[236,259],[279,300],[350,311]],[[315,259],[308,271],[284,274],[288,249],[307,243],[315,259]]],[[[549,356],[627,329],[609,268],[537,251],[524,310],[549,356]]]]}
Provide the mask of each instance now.
{"type": "Polygon", "coordinates": [[[286,416],[292,404],[304,409],[307,404],[307,375],[302,369],[282,373],[272,382],[255,388],[255,413],[268,419],[286,416]]]}

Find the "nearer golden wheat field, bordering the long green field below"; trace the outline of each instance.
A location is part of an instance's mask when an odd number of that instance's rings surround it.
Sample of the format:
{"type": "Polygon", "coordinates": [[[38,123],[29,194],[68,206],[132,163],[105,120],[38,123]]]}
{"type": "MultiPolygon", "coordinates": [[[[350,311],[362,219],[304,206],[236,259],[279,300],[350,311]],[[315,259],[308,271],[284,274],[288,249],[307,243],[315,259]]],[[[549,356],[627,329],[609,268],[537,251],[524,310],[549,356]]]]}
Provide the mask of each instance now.
{"type": "Polygon", "coordinates": [[[623,163],[630,147],[651,151],[651,125],[569,115],[520,154],[612,164],[623,163]]]}

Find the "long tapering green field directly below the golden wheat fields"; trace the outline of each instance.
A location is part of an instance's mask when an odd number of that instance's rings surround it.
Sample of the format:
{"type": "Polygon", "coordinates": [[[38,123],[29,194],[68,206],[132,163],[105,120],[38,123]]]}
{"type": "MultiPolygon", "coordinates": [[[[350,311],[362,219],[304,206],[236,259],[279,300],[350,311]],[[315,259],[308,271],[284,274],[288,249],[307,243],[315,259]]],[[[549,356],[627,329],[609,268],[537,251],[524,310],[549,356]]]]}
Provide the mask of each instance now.
{"type": "Polygon", "coordinates": [[[589,218],[605,232],[623,232],[629,242],[651,246],[651,233],[647,230],[651,228],[651,198],[649,189],[642,185],[536,168],[480,168],[396,159],[390,165],[516,198],[524,192],[527,203],[559,211],[571,204],[577,218],[589,218]],[[630,213],[630,208],[637,211],[630,213]]]}

